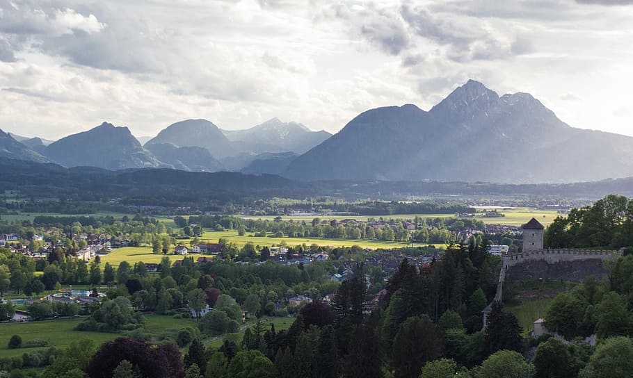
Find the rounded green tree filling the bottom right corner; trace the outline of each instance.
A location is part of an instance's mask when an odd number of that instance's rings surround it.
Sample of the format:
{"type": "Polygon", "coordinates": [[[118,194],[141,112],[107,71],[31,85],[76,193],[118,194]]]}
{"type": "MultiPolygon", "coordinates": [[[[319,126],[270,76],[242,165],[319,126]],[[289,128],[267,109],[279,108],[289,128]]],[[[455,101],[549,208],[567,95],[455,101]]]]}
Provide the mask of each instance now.
{"type": "Polygon", "coordinates": [[[633,372],[633,340],[618,336],[595,347],[579,378],[628,378],[633,372]]]}

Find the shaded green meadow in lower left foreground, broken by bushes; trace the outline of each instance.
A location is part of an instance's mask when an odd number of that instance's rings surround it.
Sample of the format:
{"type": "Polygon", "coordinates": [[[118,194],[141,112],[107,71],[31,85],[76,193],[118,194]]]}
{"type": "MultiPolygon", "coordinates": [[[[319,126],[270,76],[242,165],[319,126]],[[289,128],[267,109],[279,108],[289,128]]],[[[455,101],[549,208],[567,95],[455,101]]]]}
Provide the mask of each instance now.
{"type": "MultiPolygon", "coordinates": [[[[114,340],[122,334],[106,334],[102,332],[75,331],[74,327],[82,319],[43,320],[41,322],[3,323],[0,324],[0,357],[22,356],[25,352],[46,349],[47,347],[67,347],[72,341],[89,338],[99,345],[114,340]],[[22,336],[22,344],[35,338],[47,340],[47,347],[19,348],[10,350],[7,347],[13,335],[22,336]]],[[[275,324],[275,327],[277,324],[275,324]]],[[[197,327],[195,320],[174,319],[167,315],[145,316],[145,330],[152,336],[161,334],[168,328],[197,327]]]]}

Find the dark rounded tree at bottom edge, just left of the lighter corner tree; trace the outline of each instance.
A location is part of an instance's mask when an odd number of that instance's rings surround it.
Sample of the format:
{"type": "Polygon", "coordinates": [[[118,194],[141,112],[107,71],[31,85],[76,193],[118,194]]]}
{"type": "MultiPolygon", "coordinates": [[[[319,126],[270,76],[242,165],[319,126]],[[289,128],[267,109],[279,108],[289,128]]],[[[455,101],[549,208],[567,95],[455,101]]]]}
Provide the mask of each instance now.
{"type": "Polygon", "coordinates": [[[574,378],[578,371],[572,366],[572,356],[561,340],[550,338],[540,343],[532,359],[534,378],[574,378]]]}

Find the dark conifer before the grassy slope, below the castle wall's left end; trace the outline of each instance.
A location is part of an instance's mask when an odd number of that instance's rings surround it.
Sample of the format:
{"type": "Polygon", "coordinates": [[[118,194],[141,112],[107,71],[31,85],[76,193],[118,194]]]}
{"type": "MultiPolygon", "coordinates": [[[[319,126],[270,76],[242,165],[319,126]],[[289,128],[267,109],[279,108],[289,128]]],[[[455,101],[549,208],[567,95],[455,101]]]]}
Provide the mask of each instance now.
{"type": "Polygon", "coordinates": [[[484,345],[489,354],[498,350],[522,350],[521,326],[512,313],[506,313],[499,302],[492,303],[484,345]]]}

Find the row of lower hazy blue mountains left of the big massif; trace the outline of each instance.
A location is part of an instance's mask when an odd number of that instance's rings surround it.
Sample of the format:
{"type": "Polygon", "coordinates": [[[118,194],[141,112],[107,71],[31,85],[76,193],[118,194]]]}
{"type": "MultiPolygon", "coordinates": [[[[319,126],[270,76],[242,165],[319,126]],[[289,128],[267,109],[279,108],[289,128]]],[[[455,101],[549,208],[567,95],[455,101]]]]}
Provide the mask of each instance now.
{"type": "Polygon", "coordinates": [[[143,138],[135,138],[127,127],[104,122],[57,141],[2,133],[0,156],[106,170],[239,171],[255,162],[251,171],[262,174],[268,173],[264,171],[269,167],[276,173],[282,172],[290,157],[298,156],[330,136],[326,131],[310,131],[296,122],[285,123],[277,118],[242,131],[221,130],[207,120],[185,120],[171,124],[153,138],[145,137],[147,142],[142,146],[139,140],[143,138]],[[273,158],[277,154],[283,156],[282,161],[273,158]],[[264,162],[257,165],[260,158],[264,162]]]}

